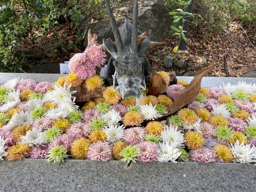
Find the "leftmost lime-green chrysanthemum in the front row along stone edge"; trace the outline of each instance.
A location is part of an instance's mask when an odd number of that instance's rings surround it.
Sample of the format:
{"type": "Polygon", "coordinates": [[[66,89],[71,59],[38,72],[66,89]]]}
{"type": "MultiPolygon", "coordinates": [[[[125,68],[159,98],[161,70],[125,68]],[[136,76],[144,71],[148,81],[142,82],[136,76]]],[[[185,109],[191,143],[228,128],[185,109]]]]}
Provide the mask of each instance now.
{"type": "Polygon", "coordinates": [[[51,162],[52,160],[54,160],[54,163],[60,163],[60,161],[64,162],[64,158],[69,156],[67,155],[67,151],[67,148],[63,145],[57,145],[48,151],[49,155],[47,155],[46,158],[48,158],[48,162],[51,162]]]}

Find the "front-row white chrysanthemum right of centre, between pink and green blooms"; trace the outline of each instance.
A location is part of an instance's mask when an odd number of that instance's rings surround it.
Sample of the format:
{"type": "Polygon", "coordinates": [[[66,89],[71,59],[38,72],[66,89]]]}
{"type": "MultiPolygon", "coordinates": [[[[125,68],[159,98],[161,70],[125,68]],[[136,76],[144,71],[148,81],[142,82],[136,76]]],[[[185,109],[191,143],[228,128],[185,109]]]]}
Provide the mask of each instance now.
{"type": "Polygon", "coordinates": [[[177,163],[175,161],[181,154],[181,151],[178,148],[173,147],[169,143],[159,143],[160,153],[158,154],[158,161],[167,162],[171,161],[173,163],[177,163]]]}

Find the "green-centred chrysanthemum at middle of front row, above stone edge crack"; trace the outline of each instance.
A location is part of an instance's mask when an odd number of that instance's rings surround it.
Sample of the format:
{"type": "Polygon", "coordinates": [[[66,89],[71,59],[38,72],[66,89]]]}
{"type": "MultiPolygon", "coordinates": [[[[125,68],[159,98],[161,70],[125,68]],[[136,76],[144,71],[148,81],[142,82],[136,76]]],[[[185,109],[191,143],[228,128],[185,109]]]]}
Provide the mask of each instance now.
{"type": "Polygon", "coordinates": [[[124,157],[121,159],[121,161],[130,163],[131,161],[136,163],[136,157],[139,157],[140,154],[140,149],[137,148],[136,146],[131,146],[128,145],[125,148],[122,149],[122,151],[119,154],[120,156],[124,157]]]}

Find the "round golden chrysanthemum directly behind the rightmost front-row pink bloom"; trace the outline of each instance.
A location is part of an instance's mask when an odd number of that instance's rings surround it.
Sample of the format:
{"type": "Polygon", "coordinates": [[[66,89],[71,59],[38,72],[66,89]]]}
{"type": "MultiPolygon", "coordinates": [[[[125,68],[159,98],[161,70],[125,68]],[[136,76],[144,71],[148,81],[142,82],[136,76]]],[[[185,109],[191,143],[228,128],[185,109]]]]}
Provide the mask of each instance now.
{"type": "Polygon", "coordinates": [[[188,149],[197,149],[203,147],[205,144],[204,136],[197,131],[188,131],[184,134],[185,146],[188,146],[188,149]]]}

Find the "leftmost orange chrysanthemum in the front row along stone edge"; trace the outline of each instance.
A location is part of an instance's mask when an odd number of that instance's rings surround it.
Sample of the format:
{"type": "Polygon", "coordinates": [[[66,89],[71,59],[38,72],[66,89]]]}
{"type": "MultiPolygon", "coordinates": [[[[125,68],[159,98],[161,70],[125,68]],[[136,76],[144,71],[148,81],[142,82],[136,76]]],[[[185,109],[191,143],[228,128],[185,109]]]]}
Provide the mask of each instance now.
{"type": "Polygon", "coordinates": [[[29,157],[29,153],[31,151],[32,148],[28,147],[28,144],[16,144],[7,149],[6,158],[8,159],[8,161],[17,161],[29,157]]]}

